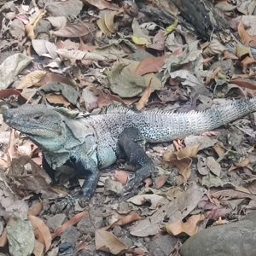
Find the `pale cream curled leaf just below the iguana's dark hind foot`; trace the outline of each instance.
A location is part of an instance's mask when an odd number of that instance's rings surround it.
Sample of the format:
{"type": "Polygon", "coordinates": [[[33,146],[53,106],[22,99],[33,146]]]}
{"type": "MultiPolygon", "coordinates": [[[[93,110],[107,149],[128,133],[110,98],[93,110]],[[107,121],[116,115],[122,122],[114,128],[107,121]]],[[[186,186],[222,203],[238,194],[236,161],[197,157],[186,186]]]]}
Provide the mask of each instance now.
{"type": "Polygon", "coordinates": [[[154,194],[145,194],[145,195],[135,195],[128,199],[127,201],[130,201],[131,203],[141,206],[145,202],[150,202],[151,206],[149,209],[156,209],[157,207],[160,207],[166,200],[163,196],[160,195],[154,195],[154,194]]]}

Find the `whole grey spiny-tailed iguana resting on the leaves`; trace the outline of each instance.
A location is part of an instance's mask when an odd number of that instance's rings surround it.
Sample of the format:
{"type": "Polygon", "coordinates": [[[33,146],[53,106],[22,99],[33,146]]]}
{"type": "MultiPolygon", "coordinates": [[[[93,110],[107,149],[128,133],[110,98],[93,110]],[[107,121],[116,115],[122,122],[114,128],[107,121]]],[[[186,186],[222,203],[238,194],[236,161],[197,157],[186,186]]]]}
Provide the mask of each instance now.
{"type": "Polygon", "coordinates": [[[125,153],[137,167],[125,191],[137,189],[154,171],[153,162],[143,151],[142,143],[168,142],[189,134],[212,131],[253,111],[256,111],[256,99],[233,102],[204,112],[136,113],[117,108],[111,113],[77,119],[59,108],[24,105],[7,110],[3,119],[43,150],[43,166],[49,174],[56,167],[68,165],[86,176],[81,195],[90,199],[96,189],[99,169],[112,165],[120,154],[125,153]]]}

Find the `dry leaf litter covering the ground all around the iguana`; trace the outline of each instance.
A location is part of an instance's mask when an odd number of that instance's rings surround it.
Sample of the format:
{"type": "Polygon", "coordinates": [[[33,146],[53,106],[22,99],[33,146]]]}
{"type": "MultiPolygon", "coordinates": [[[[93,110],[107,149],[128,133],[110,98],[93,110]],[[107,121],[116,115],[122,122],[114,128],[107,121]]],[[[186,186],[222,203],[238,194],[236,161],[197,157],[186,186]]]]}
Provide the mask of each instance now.
{"type": "MultiPolygon", "coordinates": [[[[208,40],[177,17],[152,20],[149,2],[146,8],[105,0],[42,4],[0,3],[1,113],[26,102],[84,113],[101,113],[109,104],[204,111],[255,96],[253,1],[217,1],[215,8],[234,15],[230,34],[208,40]]],[[[166,10],[172,14],[169,5],[166,10]]],[[[253,113],[218,132],[147,145],[156,171],[138,195],[117,199],[131,172],[121,171],[120,162],[102,172],[88,209],[76,205],[60,222],[49,212],[50,200],[79,187],[79,180],[72,183],[66,170],[56,173],[61,186],[52,184],[40,149],[19,132],[9,136],[0,120],[0,227],[6,227],[0,245],[11,255],[175,255],[199,230],[255,209],[253,113]],[[50,221],[59,226],[49,229],[50,221]]]]}

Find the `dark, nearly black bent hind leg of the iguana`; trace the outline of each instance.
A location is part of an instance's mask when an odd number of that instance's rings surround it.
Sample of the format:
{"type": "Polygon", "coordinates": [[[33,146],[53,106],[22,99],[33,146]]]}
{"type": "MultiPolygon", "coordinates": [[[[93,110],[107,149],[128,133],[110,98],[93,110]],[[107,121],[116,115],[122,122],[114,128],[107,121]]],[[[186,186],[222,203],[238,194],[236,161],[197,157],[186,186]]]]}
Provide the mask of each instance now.
{"type": "Polygon", "coordinates": [[[134,195],[143,180],[154,172],[154,163],[143,150],[140,143],[143,139],[137,128],[126,128],[119,136],[119,147],[124,151],[128,160],[136,166],[137,172],[131,175],[128,183],[125,185],[124,193],[134,195]]]}

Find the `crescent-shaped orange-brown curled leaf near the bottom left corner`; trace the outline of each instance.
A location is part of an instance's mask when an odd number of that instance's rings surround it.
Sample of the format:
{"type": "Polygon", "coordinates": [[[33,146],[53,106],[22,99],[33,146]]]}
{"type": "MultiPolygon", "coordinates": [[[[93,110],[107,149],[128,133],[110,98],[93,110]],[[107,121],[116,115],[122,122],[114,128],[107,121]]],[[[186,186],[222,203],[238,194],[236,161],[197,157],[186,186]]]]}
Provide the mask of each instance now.
{"type": "Polygon", "coordinates": [[[51,235],[49,232],[49,227],[44,224],[41,218],[33,215],[28,215],[29,220],[34,228],[35,236],[42,244],[44,244],[44,253],[49,250],[51,245],[51,235]]]}

